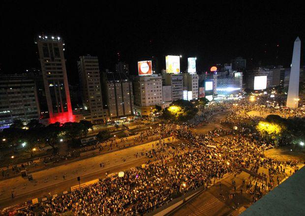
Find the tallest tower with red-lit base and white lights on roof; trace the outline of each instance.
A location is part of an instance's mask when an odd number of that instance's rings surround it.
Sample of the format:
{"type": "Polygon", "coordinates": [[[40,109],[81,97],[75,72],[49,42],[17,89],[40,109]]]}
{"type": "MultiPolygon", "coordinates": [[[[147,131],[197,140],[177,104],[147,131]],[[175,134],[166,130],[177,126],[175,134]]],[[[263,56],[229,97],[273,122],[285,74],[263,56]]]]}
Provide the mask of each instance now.
{"type": "Polygon", "coordinates": [[[75,121],[60,37],[39,35],[38,47],[44,94],[48,106],[48,123],[75,121]]]}

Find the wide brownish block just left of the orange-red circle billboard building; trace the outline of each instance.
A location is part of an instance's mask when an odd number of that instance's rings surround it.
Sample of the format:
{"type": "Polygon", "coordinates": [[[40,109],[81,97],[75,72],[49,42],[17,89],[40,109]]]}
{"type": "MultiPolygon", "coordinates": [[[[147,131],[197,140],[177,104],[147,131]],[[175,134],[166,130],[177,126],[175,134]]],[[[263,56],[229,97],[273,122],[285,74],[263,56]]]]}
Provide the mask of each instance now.
{"type": "Polygon", "coordinates": [[[103,98],[111,120],[133,114],[132,82],[124,73],[102,73],[103,98]]]}

